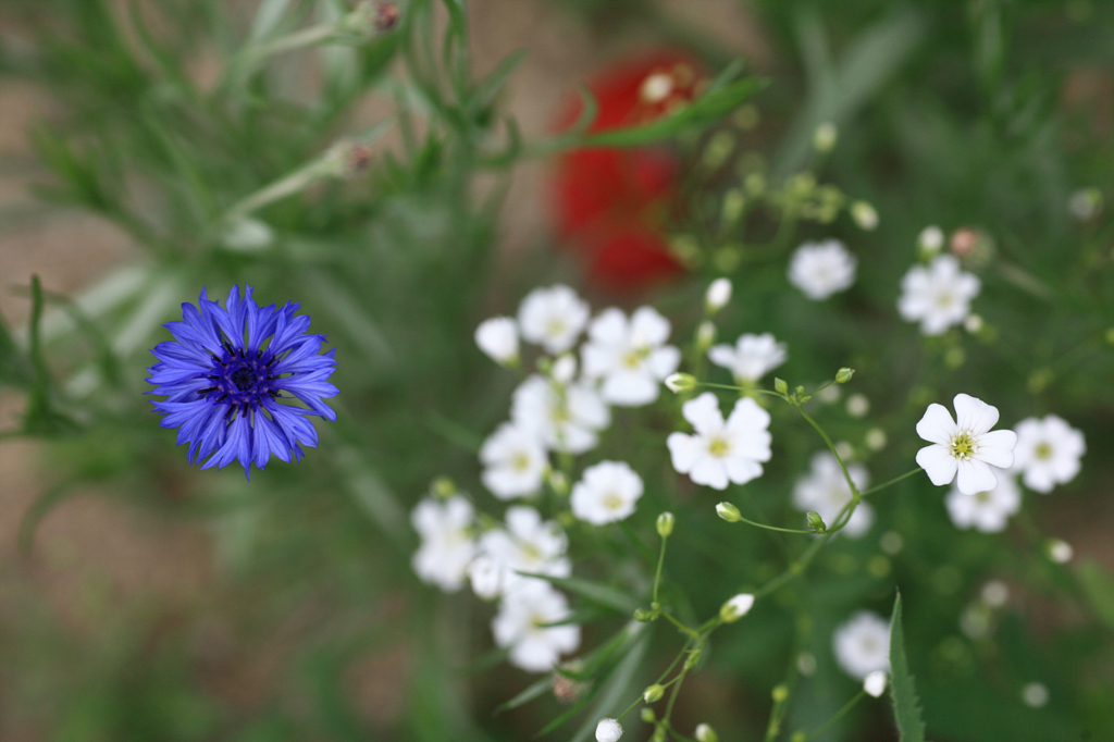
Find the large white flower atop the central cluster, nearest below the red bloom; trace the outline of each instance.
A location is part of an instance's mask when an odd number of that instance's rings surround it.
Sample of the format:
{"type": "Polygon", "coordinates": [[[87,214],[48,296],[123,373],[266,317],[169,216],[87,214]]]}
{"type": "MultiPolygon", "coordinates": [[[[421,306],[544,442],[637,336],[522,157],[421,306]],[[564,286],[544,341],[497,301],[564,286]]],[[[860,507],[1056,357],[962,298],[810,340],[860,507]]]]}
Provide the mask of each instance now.
{"type": "Polygon", "coordinates": [[[665,344],[668,338],[670,321],[651,306],[636,309],[629,322],[622,311],[606,309],[588,326],[584,373],[603,379],[600,393],[612,404],[648,404],[681,362],[681,351],[665,344]]]}

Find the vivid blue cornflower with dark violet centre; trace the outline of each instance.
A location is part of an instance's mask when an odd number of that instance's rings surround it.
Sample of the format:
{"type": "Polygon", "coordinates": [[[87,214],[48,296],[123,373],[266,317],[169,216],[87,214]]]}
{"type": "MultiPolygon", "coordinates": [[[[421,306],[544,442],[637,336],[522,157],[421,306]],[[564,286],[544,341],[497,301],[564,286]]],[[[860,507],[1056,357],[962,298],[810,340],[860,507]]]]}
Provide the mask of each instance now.
{"type": "Polygon", "coordinates": [[[251,479],[252,462],[262,469],[272,453],[283,461],[291,453],[300,460],[300,445],[317,445],[306,416],[336,419],[322,401],[336,396],[328,381],[336,350],[317,354],[325,336],[304,334],[310,318],[294,316],[296,302],[260,307],[251,286],[243,299],[233,286],[225,306],[209,301],[202,289],[196,307],[182,305],[183,322],[163,325],[177,342],[152,351],[159,362],[147,369],[147,381],[157,387],[148,393],[166,397],[153,402],[165,414],[159,424],[178,428],[178,445],[189,443],[190,463],[209,453],[202,469],[238,460],[251,479]],[[290,396],[309,409],[278,401],[290,396]]]}

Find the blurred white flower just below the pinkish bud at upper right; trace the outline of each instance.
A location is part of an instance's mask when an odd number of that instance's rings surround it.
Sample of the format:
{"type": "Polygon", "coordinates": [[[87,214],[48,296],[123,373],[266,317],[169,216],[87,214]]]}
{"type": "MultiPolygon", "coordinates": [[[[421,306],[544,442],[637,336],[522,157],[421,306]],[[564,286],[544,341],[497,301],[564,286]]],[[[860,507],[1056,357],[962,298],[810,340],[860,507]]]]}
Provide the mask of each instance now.
{"type": "Polygon", "coordinates": [[[901,279],[898,311],[909,322],[920,322],[926,335],[939,335],[959,324],[978,295],[979,280],[959,270],[955,255],[938,255],[928,267],[915,265],[901,279]]]}

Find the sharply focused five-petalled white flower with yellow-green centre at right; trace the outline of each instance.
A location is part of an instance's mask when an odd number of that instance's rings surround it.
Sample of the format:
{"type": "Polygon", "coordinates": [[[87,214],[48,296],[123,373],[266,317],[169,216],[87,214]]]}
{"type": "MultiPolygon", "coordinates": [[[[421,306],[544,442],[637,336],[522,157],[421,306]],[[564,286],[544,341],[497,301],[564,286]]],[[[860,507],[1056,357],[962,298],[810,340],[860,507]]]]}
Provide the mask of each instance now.
{"type": "Polygon", "coordinates": [[[1017,433],[990,428],[998,409],[968,394],[956,394],[956,421],[942,404],[932,402],[917,423],[917,435],[932,443],[917,451],[917,465],[937,487],[952,479],[964,495],[994,489],[998,478],[991,467],[1014,463],[1017,433]],[[957,476],[958,475],[958,476],[957,476]]]}

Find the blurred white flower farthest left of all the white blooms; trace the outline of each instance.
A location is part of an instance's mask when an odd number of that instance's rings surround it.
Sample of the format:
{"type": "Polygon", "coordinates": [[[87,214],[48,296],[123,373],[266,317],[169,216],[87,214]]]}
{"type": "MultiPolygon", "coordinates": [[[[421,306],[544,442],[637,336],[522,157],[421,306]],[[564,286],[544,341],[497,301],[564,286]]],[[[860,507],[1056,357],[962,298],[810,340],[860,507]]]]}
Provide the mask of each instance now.
{"type": "Polygon", "coordinates": [[[410,514],[410,523],[421,536],[412,565],[418,576],[446,593],[460,589],[465,570],[476,554],[469,529],[472,506],[460,496],[442,501],[427,498],[410,514]]]}

